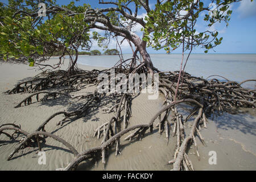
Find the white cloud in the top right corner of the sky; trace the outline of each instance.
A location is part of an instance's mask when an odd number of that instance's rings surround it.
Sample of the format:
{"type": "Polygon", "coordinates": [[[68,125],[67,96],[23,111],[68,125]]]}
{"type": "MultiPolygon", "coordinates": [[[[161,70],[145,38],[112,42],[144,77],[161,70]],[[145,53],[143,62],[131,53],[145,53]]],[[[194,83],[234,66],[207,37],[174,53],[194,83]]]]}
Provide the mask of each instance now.
{"type": "Polygon", "coordinates": [[[256,15],[256,2],[250,0],[243,0],[237,9],[240,18],[247,18],[256,15]]]}

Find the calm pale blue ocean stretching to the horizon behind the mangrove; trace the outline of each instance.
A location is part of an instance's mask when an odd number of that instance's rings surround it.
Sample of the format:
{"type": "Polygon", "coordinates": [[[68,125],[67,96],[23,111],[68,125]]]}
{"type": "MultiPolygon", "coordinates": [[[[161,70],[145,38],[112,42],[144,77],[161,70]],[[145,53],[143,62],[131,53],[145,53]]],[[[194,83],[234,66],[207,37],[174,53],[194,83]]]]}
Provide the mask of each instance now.
{"type": "MultiPolygon", "coordinates": [[[[184,55],[183,64],[187,56],[187,54],[184,55]]],[[[132,54],[123,54],[123,59],[125,60],[131,57],[132,54]]],[[[181,54],[150,54],[150,57],[154,67],[160,71],[177,71],[180,69],[181,54]]],[[[118,55],[80,55],[77,63],[110,68],[118,60],[118,55]]],[[[185,67],[185,72],[203,78],[220,75],[237,82],[256,79],[256,54],[191,54],[185,67]]],[[[219,80],[224,80],[221,77],[215,77],[219,80]]],[[[242,86],[256,88],[256,82],[246,82],[242,86]]]]}

